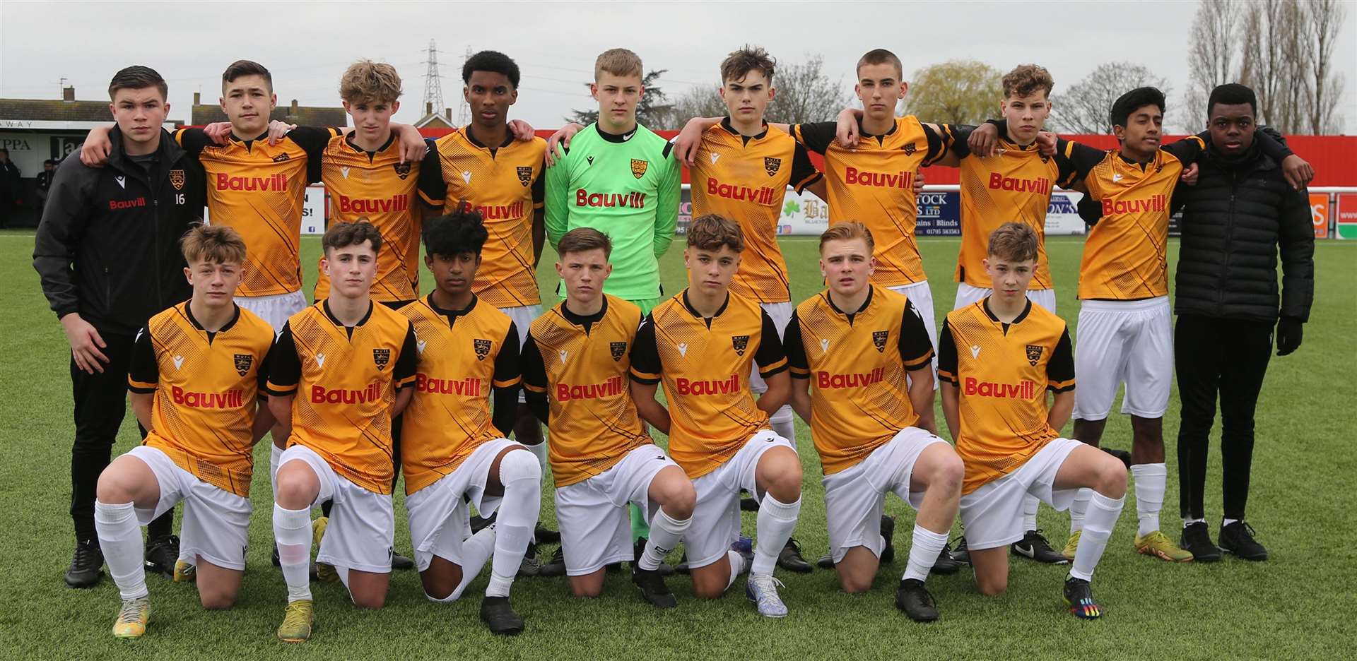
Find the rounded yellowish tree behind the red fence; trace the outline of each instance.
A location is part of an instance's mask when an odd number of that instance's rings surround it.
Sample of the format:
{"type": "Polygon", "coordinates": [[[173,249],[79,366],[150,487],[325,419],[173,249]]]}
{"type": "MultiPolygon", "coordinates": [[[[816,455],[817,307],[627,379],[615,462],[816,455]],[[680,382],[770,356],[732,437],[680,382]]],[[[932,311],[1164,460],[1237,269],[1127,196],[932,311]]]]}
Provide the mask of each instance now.
{"type": "Polygon", "coordinates": [[[1003,74],[974,60],[950,60],[915,72],[905,114],[927,122],[978,125],[999,112],[1003,74]]]}

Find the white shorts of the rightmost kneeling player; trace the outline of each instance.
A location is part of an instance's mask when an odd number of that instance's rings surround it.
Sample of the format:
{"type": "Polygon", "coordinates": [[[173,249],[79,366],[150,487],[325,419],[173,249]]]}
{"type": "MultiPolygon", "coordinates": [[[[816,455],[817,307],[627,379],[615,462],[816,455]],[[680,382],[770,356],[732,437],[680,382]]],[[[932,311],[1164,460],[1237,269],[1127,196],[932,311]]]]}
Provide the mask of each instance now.
{"type": "Polygon", "coordinates": [[[966,547],[980,551],[1018,542],[1026,534],[1022,501],[1029,493],[1057,512],[1069,509],[1079,489],[1054,489],[1056,473],[1080,442],[1054,439],[1012,473],[961,494],[966,547]]]}

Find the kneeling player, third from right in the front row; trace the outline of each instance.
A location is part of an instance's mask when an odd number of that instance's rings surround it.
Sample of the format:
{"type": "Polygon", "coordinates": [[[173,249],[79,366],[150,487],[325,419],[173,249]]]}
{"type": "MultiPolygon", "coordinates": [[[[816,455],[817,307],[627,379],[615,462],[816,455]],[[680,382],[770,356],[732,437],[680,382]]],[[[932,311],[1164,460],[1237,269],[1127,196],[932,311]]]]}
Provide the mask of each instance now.
{"type": "Polygon", "coordinates": [[[778,326],[759,303],[727,289],[744,248],[735,221],[708,214],[688,225],[688,287],[642,322],[631,351],[631,396],[641,417],[669,433],[669,451],[697,492],[684,534],[693,592],[715,599],[748,566],[746,596],[760,615],[782,618],[787,607],[772,568],[801,512],[801,459],[768,424],[791,389],[778,326]],[[750,363],[768,383],[757,402],[750,363]],[[661,379],[669,410],[655,401],[661,379]],[[741,489],[763,498],[752,557],[741,554],[744,545],[731,549],[740,542],[741,489]]]}

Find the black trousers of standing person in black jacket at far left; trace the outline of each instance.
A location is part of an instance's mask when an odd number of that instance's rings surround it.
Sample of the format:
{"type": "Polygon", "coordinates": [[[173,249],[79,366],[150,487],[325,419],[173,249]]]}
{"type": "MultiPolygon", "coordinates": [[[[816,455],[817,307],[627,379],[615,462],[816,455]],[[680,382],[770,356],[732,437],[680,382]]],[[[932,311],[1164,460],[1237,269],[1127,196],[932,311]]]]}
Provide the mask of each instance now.
{"type": "MultiPolygon", "coordinates": [[[[75,520],[76,540],[98,539],[94,527],[95,488],[99,474],[109,467],[113,443],[118,438],[128,410],[128,366],[132,362],[130,335],[99,333],[109,363],[102,372],[87,374],[71,359],[71,393],[75,398],[76,442],[71,448],[71,517],[75,520]]],[[[138,425],[140,428],[140,425],[138,425]]],[[[145,436],[145,429],[141,429],[145,436]]],[[[174,530],[174,509],[147,526],[151,539],[168,535],[174,530]]]]}

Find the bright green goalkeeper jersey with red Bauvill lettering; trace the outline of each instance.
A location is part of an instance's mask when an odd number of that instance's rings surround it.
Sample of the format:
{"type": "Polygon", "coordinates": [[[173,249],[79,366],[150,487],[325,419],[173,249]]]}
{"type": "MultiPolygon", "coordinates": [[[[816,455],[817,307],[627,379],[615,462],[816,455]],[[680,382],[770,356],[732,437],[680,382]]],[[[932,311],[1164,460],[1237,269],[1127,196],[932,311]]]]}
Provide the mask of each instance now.
{"type": "Polygon", "coordinates": [[[660,261],[678,222],[681,171],[665,138],[638,125],[622,135],[589,125],[547,168],[547,240],[594,228],[612,240],[604,291],[627,301],[660,297],[660,261]]]}

